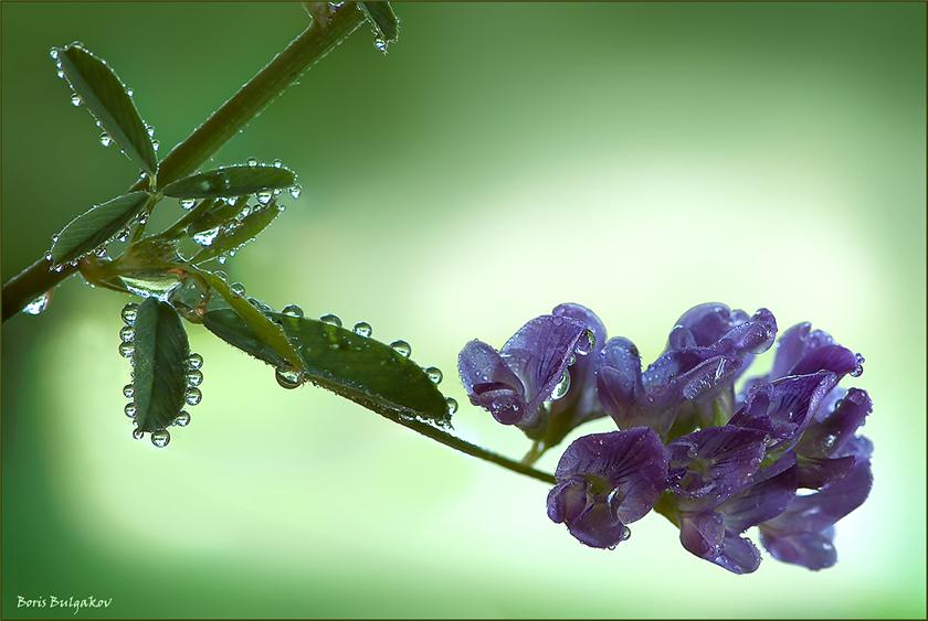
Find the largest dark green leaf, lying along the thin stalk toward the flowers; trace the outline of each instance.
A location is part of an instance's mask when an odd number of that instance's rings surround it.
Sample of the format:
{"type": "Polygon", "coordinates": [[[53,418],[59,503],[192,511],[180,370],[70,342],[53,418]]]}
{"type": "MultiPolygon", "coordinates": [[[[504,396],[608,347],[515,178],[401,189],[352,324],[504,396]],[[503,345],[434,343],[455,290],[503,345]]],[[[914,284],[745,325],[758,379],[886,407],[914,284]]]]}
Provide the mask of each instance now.
{"type": "MultiPolygon", "coordinates": [[[[283,325],[305,364],[305,376],[363,407],[387,416],[446,425],[447,404],[425,372],[392,347],[350,330],[312,319],[270,313],[283,325]]],[[[280,357],[241,318],[210,311],[204,325],[220,339],[273,365],[280,357]]]]}

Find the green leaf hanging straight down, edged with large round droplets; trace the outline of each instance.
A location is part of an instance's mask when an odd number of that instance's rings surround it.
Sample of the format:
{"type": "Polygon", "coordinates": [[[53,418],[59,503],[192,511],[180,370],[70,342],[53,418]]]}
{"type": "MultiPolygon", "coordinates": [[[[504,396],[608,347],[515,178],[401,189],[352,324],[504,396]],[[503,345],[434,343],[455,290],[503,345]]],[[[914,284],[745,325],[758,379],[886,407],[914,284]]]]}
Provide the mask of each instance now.
{"type": "Polygon", "coordinates": [[[157,431],[169,427],[183,407],[190,346],[180,317],[155,298],[138,307],[133,352],[136,427],[157,431]]]}

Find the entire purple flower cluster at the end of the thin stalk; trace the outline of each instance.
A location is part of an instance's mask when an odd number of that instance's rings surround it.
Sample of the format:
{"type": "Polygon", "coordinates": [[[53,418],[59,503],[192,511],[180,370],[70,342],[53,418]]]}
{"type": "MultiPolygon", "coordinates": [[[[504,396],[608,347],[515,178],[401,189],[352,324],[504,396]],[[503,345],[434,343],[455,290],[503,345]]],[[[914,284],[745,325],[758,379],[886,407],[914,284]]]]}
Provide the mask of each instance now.
{"type": "Polygon", "coordinates": [[[534,439],[535,457],[583,422],[615,421],[567,448],[548,494],[548,516],[581,543],[613,548],[655,508],[687,550],[735,574],[760,565],[752,526],[778,560],[822,569],[836,560],[835,522],[873,482],[873,445],[856,433],[873,404],[837,387],[864,360],[800,323],[777,340],[769,374],[742,377],[774,340],[767,309],[700,304],[642,370],[634,343],[561,304],[499,351],[471,341],[458,368],[471,403],[534,439]]]}

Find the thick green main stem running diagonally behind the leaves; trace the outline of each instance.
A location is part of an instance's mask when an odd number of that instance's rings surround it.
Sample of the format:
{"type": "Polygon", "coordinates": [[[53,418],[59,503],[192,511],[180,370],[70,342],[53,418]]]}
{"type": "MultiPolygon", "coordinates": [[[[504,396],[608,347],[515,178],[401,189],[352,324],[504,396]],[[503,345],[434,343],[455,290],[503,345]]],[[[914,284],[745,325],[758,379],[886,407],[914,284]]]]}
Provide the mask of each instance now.
{"type": "MultiPolygon", "coordinates": [[[[346,2],[327,24],[314,21],[161,160],[158,165],[158,183],[165,185],[197,170],[304,71],[328,54],[363,21],[363,13],[354,2],[346,2]]],[[[148,180],[141,179],[128,191],[144,190],[147,184],[148,180]]],[[[61,271],[51,268],[51,261],[39,259],[3,285],[3,321],[76,271],[70,265],[61,271]]]]}

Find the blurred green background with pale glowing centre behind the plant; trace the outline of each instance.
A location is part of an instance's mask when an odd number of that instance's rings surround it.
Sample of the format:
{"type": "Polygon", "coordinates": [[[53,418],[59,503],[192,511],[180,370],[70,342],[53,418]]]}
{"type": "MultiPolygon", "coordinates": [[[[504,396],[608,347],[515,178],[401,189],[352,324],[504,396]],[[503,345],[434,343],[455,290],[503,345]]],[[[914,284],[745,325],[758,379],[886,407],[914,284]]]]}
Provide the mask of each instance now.
{"type": "MultiPolygon", "coordinates": [[[[198,326],[191,426],[134,442],[127,300],[72,279],[2,329],[3,615],[71,617],[17,608],[54,595],[112,597],[96,614],[115,618],[924,617],[925,4],[397,11],[388,56],[357,33],[217,156],[281,158],[304,185],[231,278],[407,339],[445,371],[458,432],[513,456],[524,437],[456,381],[468,339],[500,345],[562,301],[647,360],[698,302],[812,321],[866,356],[853,385],[876,403],[875,486],[839,564],[729,575],[657,515],[586,548],[545,485],[282,390],[198,326]]],[[[136,176],[50,46],[107,58],[165,153],[305,22],[298,4],[4,2],[3,279],[136,176]]]]}

